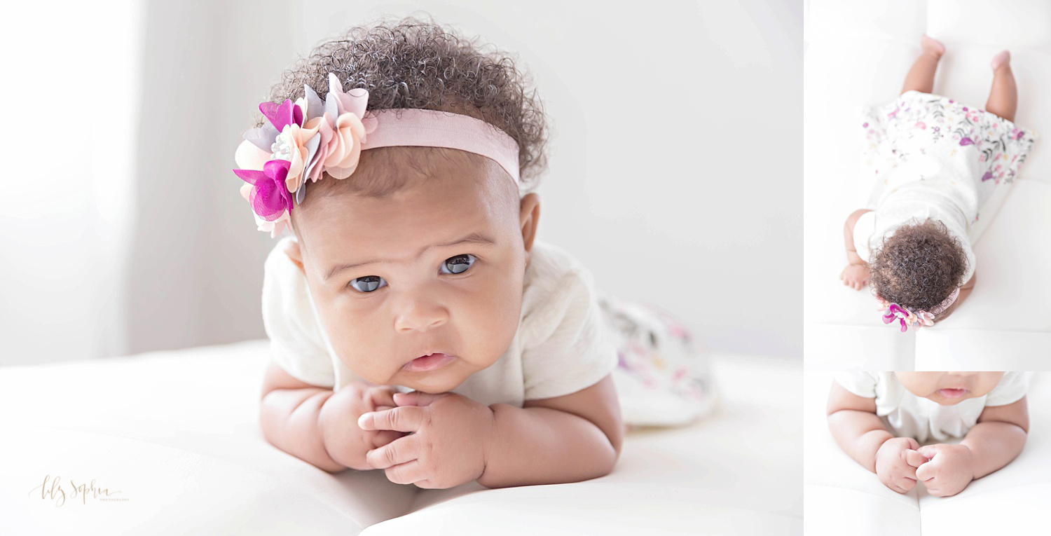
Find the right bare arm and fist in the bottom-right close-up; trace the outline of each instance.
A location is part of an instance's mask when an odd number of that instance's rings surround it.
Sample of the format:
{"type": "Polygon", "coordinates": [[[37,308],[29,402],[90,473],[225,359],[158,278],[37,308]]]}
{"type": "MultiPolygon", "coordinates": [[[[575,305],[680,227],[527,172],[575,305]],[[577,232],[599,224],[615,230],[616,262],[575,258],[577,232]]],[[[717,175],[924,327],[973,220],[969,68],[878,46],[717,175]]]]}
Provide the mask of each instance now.
{"type": "Polygon", "coordinates": [[[1026,444],[1029,413],[1026,398],[982,411],[960,445],[929,445],[920,453],[930,461],[916,469],[916,478],[937,497],[955,495],[971,480],[1011,462],[1026,444]]]}

